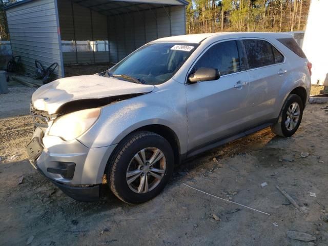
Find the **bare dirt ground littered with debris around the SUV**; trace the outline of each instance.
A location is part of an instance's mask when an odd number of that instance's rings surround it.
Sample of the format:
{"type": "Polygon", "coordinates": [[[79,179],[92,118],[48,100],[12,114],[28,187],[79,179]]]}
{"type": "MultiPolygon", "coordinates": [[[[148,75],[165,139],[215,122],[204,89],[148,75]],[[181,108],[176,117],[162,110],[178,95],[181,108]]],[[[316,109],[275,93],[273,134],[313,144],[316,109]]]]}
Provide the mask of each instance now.
{"type": "Polygon", "coordinates": [[[20,97],[29,95],[15,90],[14,96],[0,95],[0,245],[328,244],[327,105],[308,105],[293,137],[276,137],[264,129],[186,161],[159,196],[132,206],[106,185],[100,201],[75,201],[34,170],[24,148],[33,130],[31,117],[10,115],[8,109],[22,106],[20,97]],[[302,158],[301,152],[309,156],[302,158]],[[261,187],[263,182],[268,185],[261,187]],[[297,211],[277,185],[306,213],[297,211]],[[289,230],[317,239],[290,239],[289,230]]]}

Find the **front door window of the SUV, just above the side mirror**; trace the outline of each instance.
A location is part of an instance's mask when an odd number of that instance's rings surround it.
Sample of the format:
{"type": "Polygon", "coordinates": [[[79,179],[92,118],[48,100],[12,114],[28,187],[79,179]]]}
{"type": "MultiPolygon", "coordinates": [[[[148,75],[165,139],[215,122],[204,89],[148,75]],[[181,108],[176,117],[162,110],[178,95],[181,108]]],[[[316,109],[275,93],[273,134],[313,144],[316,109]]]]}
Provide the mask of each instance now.
{"type": "Polygon", "coordinates": [[[213,45],[199,58],[193,70],[199,68],[217,68],[221,76],[239,72],[240,61],[236,41],[213,45]]]}

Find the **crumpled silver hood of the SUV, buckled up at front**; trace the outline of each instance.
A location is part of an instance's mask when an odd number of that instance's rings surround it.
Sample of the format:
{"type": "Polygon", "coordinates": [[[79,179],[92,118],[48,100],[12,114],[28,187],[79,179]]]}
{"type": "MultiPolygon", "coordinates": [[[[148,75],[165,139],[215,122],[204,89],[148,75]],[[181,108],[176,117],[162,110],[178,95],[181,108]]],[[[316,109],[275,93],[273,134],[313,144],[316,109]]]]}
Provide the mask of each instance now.
{"type": "Polygon", "coordinates": [[[116,78],[83,75],[60,78],[38,88],[32,95],[32,104],[35,109],[55,114],[60,106],[70,101],[149,93],[153,89],[154,86],[151,85],[140,85],[116,78]]]}

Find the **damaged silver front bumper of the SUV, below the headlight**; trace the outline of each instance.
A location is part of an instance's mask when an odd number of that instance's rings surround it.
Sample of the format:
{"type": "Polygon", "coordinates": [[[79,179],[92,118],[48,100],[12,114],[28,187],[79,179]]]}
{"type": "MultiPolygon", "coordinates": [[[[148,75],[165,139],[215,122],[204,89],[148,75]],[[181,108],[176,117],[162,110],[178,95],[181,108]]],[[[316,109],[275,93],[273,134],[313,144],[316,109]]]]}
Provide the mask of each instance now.
{"type": "Polygon", "coordinates": [[[78,140],[43,136],[37,127],[27,152],[31,165],[65,194],[79,201],[94,201],[99,198],[107,161],[115,147],[88,148],[78,140]]]}

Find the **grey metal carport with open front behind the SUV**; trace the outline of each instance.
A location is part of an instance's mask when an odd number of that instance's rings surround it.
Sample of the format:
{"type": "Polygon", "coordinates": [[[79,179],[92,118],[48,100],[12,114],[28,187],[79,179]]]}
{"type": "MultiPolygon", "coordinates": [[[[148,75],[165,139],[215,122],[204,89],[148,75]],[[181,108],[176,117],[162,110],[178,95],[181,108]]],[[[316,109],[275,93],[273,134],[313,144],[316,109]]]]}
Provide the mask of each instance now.
{"type": "Polygon", "coordinates": [[[13,55],[27,72],[117,63],[153,39],[185,34],[185,0],[23,0],[6,7],[13,55]],[[99,48],[100,47],[100,48],[99,48]]]}

